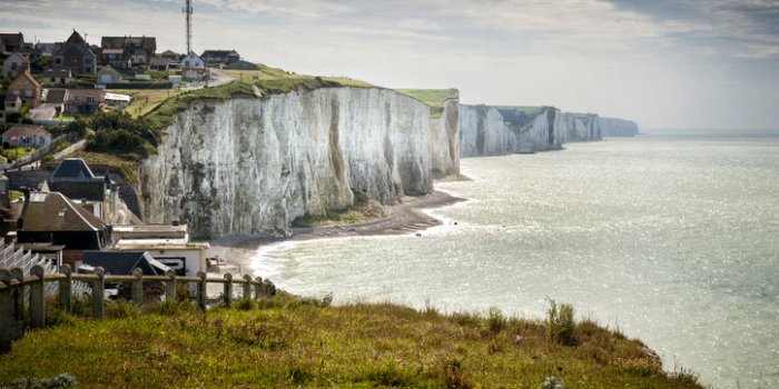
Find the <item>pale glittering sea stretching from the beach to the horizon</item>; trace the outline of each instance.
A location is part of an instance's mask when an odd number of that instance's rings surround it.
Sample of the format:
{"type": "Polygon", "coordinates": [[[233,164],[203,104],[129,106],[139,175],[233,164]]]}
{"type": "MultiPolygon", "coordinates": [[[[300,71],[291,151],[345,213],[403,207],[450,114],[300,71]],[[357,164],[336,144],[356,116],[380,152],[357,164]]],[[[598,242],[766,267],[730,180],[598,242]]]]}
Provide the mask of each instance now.
{"type": "Polygon", "coordinates": [[[437,188],[471,200],[422,237],[263,248],[256,270],[336,302],[542,318],[551,297],[668,370],[779,387],[779,133],[610,138],[462,171],[437,188]]]}

